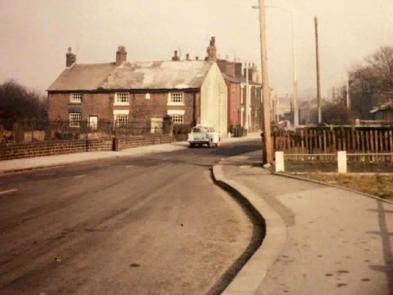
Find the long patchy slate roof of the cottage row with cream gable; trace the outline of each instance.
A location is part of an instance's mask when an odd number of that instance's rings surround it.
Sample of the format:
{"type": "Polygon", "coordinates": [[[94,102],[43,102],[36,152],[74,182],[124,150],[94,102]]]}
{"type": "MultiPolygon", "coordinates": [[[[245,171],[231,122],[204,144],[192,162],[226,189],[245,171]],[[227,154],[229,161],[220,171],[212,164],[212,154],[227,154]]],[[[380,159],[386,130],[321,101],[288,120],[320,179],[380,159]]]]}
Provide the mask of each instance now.
{"type": "Polygon", "coordinates": [[[48,91],[200,88],[211,66],[209,61],[75,64],[48,91]]]}

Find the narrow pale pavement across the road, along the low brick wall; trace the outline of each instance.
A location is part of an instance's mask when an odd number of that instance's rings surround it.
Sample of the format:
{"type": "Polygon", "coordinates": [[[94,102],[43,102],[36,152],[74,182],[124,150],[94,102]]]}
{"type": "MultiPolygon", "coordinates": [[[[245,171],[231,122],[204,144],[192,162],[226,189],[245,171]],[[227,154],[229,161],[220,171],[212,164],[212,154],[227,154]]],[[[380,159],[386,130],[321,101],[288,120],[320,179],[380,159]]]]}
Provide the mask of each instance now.
{"type": "MultiPolygon", "coordinates": [[[[247,140],[256,140],[259,138],[260,133],[250,133],[246,137],[226,138],[222,141],[222,144],[244,142],[247,140]]],[[[188,149],[188,142],[174,142],[172,144],[140,146],[132,149],[124,149],[122,151],[95,151],[86,153],[71,153],[66,155],[50,155],[35,158],[22,158],[15,160],[3,160],[0,161],[0,173],[39,169],[48,166],[64,166],[69,164],[75,164],[77,162],[105,160],[116,157],[151,155],[154,153],[181,151],[183,149],[188,149]]]]}

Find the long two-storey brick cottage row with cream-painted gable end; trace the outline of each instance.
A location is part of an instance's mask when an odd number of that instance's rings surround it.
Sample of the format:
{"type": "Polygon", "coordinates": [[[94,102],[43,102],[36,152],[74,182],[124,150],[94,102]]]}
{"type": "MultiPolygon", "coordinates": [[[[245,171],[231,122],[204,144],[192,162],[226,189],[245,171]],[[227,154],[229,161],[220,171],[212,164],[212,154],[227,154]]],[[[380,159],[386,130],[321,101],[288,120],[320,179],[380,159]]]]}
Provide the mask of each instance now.
{"type": "Polygon", "coordinates": [[[171,115],[174,124],[210,124],[227,134],[227,88],[211,56],[205,61],[129,62],[119,46],[116,62],[77,64],[68,48],[66,68],[48,88],[49,120],[145,122],[171,115]]]}

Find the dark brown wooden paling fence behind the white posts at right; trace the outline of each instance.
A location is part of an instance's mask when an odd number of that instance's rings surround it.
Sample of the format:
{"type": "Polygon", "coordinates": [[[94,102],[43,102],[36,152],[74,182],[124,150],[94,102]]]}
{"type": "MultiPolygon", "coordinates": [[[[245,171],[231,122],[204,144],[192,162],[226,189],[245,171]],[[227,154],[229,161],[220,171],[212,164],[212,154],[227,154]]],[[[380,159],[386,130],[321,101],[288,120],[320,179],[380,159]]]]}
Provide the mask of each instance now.
{"type": "Polygon", "coordinates": [[[275,151],[296,158],[322,154],[329,159],[328,155],[347,151],[359,160],[393,162],[393,129],[298,129],[276,131],[272,137],[275,151]]]}

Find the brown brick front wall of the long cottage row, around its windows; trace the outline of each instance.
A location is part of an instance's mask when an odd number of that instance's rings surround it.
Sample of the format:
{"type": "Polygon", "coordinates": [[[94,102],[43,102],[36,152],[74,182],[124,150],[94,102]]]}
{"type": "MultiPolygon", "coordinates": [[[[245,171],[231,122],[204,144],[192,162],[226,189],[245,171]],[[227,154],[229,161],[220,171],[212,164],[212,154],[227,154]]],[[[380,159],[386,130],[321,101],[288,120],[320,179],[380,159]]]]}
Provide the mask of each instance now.
{"type": "Polygon", "coordinates": [[[98,116],[99,120],[113,121],[113,109],[129,110],[129,121],[145,121],[150,117],[164,117],[167,110],[185,110],[184,123],[193,124],[200,116],[199,93],[184,93],[185,106],[167,106],[168,93],[130,93],[129,106],[113,106],[114,93],[83,93],[82,104],[71,104],[69,93],[49,93],[49,120],[68,120],[68,108],[80,108],[82,120],[98,116]],[[196,102],[194,103],[194,97],[196,102]],[[196,106],[194,108],[194,106],[196,106]]]}

